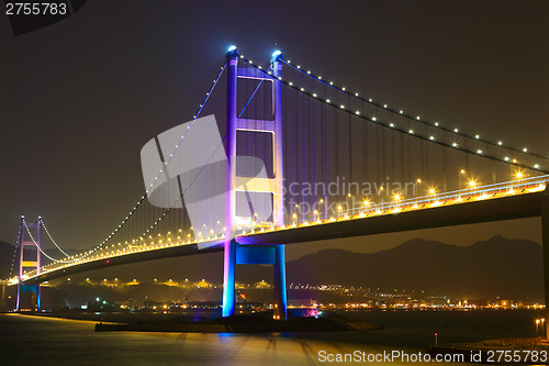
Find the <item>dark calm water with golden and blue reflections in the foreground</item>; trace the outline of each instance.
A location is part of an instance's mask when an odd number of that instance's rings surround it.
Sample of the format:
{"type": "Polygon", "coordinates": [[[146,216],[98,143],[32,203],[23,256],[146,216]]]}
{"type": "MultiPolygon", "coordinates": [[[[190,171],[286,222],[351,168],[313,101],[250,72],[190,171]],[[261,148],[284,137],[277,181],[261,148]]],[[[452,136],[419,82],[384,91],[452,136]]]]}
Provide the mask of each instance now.
{"type": "MultiPolygon", "coordinates": [[[[93,331],[94,322],[0,314],[0,365],[321,365],[318,352],[424,352],[442,342],[535,335],[534,311],[345,312],[368,332],[199,334],[93,331]]],[[[399,365],[394,363],[392,365],[399,365]]]]}

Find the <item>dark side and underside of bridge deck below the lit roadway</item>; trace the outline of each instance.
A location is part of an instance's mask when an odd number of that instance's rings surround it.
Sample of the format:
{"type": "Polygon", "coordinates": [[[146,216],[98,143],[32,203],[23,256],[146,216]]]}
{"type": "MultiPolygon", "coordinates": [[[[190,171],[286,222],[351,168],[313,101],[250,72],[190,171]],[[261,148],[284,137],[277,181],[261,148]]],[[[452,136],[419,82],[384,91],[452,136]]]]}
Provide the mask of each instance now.
{"type": "MultiPolygon", "coordinates": [[[[505,198],[468,202],[467,204],[438,206],[422,210],[404,211],[395,214],[379,217],[352,218],[309,224],[288,226],[284,230],[258,232],[237,236],[240,244],[294,244],[321,240],[366,236],[382,233],[394,233],[430,228],[453,226],[490,221],[502,221],[541,215],[541,198],[544,191],[508,196],[505,198]]],[[[158,249],[113,256],[82,263],[66,268],[43,273],[40,276],[25,280],[26,285],[34,285],[68,275],[110,266],[131,264],[145,260],[170,258],[186,255],[204,254],[223,251],[223,241],[210,242],[206,248],[200,244],[173,245],[158,249]]]]}

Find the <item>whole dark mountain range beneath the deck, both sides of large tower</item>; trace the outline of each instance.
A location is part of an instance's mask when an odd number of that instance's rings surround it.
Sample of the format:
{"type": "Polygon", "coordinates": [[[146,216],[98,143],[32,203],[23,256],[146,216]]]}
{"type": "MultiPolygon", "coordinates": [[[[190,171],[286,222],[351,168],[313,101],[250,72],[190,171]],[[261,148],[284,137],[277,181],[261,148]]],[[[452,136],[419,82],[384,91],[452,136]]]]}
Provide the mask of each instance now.
{"type": "MultiPolygon", "coordinates": [[[[366,240],[366,239],[365,239],[366,240]]],[[[76,251],[68,251],[69,253],[76,251]]],[[[384,290],[446,293],[463,298],[542,299],[542,248],[525,240],[494,236],[470,246],[415,239],[372,254],[325,249],[288,262],[288,284],[362,286],[384,290]]],[[[0,242],[0,275],[11,266],[13,246],[0,242]]],[[[58,256],[58,255],[57,255],[58,256]]],[[[138,278],[221,284],[221,253],[160,259],[74,276],[74,279],[138,278]]],[[[242,282],[270,281],[268,266],[237,266],[242,282]]]]}

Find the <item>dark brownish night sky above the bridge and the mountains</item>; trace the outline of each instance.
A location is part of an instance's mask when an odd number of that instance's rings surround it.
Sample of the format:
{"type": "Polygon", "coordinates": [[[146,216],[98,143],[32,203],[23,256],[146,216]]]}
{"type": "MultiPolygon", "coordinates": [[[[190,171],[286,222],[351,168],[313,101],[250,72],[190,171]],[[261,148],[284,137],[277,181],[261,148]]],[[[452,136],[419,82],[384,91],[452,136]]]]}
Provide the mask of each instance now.
{"type": "MultiPolygon", "coordinates": [[[[41,213],[64,247],[101,242],[144,192],[142,146],[191,120],[231,44],[264,65],[280,48],[350,90],[549,156],[548,1],[90,0],[19,36],[0,16],[0,241],[41,213]]],[[[464,228],[288,256],[541,239],[537,219],[464,228]]]]}

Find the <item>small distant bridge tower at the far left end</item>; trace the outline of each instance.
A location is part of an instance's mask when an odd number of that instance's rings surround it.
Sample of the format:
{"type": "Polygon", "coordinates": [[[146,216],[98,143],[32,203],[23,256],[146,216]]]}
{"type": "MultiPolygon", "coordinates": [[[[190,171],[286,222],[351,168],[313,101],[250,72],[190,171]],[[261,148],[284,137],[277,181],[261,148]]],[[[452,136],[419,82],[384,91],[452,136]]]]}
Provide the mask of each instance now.
{"type": "MultiPolygon", "coordinates": [[[[37,223],[25,223],[25,218],[21,217],[21,228],[20,230],[20,256],[19,256],[19,282],[18,282],[18,304],[16,311],[21,310],[21,302],[23,292],[31,292],[31,297],[33,298],[33,307],[34,310],[41,310],[41,289],[40,284],[37,285],[23,285],[23,273],[25,270],[36,269],[36,274],[40,274],[40,246],[41,246],[41,237],[42,237],[42,218],[38,217],[37,223]],[[33,237],[31,241],[25,240],[25,225],[31,231],[35,230],[33,237]],[[34,241],[33,241],[34,239],[34,241]],[[25,253],[25,247],[29,249],[25,253]],[[34,256],[34,253],[36,255],[34,256]],[[34,300],[35,299],[35,300],[34,300]],[[35,302],[35,303],[34,303],[35,302]]],[[[32,233],[31,233],[32,235],[32,233]]]]}

